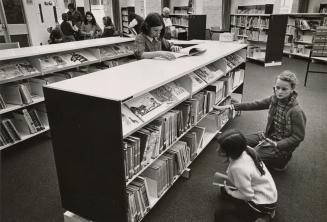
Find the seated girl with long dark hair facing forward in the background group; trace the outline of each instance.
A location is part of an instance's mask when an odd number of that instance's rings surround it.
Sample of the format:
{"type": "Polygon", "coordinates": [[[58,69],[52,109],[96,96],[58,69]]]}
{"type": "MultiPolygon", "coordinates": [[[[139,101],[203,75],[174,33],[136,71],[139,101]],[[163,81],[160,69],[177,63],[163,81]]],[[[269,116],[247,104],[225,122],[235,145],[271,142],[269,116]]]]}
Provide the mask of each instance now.
{"type": "Polygon", "coordinates": [[[85,20],[82,23],[81,35],[84,39],[99,38],[102,35],[102,30],[98,23],[95,21],[95,17],[92,12],[85,13],[85,20]]]}

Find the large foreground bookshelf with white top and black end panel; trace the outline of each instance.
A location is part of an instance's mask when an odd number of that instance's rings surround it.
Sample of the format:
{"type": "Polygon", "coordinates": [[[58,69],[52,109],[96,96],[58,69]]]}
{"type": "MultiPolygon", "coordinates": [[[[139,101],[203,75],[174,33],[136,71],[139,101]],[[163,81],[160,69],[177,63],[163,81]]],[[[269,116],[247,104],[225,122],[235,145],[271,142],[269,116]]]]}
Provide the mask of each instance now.
{"type": "Polygon", "coordinates": [[[199,46],[44,88],[67,221],[142,220],[228,122],[212,106],[241,99],[246,45],[199,46]]]}

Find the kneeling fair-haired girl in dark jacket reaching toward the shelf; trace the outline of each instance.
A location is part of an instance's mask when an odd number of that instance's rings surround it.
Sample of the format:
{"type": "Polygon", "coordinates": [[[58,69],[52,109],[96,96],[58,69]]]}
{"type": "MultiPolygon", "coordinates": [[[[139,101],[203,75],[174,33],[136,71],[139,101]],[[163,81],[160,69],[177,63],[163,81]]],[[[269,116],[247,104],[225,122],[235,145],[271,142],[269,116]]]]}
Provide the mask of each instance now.
{"type": "Polygon", "coordinates": [[[292,153],[304,139],[306,116],[297,102],[295,91],[297,78],[290,71],[279,74],[274,94],[266,99],[214,106],[217,110],[264,110],[268,111],[265,133],[246,135],[247,144],[256,147],[261,159],[274,170],[284,170],[292,153]]]}

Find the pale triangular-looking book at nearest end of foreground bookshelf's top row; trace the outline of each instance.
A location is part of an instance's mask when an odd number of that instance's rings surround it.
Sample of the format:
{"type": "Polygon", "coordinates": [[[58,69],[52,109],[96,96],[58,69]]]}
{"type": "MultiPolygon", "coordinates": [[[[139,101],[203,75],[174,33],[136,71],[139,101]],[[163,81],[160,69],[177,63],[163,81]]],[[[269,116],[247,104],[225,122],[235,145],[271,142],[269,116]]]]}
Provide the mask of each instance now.
{"type": "Polygon", "coordinates": [[[121,106],[121,121],[123,125],[123,135],[127,134],[142,124],[142,121],[124,104],[121,106]]]}

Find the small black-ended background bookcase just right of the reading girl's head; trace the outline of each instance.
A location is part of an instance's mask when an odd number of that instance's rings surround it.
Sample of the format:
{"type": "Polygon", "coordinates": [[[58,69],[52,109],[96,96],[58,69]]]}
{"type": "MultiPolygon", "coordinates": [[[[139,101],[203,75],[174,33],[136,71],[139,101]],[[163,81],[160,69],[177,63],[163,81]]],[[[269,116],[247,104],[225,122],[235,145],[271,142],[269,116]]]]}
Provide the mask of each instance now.
{"type": "Polygon", "coordinates": [[[206,15],[187,14],[187,9],[174,7],[170,19],[175,27],[172,38],[179,40],[205,39],[206,15]]]}

